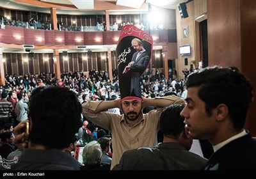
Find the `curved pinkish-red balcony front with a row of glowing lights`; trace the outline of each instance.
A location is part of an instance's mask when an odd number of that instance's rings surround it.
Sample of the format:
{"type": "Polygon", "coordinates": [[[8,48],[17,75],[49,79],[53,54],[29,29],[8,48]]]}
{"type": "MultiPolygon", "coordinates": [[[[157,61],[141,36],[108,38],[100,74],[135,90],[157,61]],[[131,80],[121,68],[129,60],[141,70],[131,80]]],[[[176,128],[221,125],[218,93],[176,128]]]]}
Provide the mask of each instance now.
{"type": "MultiPolygon", "coordinates": [[[[76,50],[79,45],[86,49],[106,51],[115,48],[121,31],[52,31],[43,29],[27,29],[24,27],[5,26],[0,29],[0,42],[3,52],[24,52],[22,45],[34,45],[35,51],[40,49],[76,50]],[[13,50],[13,51],[12,51],[13,50]]],[[[154,46],[161,43],[176,43],[176,29],[150,30],[154,46]]]]}

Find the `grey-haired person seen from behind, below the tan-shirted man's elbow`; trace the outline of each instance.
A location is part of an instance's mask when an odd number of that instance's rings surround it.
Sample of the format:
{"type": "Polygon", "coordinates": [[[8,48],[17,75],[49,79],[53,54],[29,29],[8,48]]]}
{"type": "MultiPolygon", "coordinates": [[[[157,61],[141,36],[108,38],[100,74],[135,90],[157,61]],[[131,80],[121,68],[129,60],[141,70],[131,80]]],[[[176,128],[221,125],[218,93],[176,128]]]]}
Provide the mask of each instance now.
{"type": "Polygon", "coordinates": [[[109,164],[101,161],[102,150],[97,141],[90,141],[83,149],[83,164],[81,170],[110,170],[109,164]]]}

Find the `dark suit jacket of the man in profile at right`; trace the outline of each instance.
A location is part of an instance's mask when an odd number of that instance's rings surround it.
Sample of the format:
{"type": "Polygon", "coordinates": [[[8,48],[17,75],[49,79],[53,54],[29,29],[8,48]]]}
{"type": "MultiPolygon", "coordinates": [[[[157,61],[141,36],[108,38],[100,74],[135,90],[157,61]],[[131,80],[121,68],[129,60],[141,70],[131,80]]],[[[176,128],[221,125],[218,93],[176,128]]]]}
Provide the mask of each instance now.
{"type": "Polygon", "coordinates": [[[209,159],[206,170],[255,170],[256,141],[248,133],[221,147],[209,159]]]}

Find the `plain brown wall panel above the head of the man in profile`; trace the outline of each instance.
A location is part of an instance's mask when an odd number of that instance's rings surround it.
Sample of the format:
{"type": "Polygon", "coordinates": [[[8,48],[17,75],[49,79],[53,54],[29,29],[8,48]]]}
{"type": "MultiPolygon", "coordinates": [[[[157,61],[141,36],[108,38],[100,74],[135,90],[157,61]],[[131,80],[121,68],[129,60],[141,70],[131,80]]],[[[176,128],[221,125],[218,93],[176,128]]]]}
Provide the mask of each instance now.
{"type": "Polygon", "coordinates": [[[237,13],[240,12],[239,2],[207,1],[209,66],[237,66],[241,69],[241,19],[240,13],[237,13]]]}

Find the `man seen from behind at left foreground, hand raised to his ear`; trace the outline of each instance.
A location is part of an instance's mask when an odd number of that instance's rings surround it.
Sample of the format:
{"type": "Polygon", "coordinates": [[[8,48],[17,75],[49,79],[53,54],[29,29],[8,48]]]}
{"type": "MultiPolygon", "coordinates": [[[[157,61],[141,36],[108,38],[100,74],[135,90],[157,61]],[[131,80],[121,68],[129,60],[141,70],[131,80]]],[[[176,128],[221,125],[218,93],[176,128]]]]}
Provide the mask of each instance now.
{"type": "Polygon", "coordinates": [[[67,88],[36,88],[29,100],[29,136],[26,121],[14,128],[15,143],[22,148],[15,170],[79,170],[76,159],[64,152],[76,134],[81,104],[67,88]]]}

